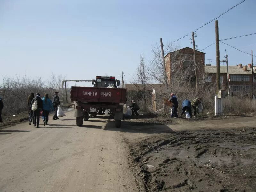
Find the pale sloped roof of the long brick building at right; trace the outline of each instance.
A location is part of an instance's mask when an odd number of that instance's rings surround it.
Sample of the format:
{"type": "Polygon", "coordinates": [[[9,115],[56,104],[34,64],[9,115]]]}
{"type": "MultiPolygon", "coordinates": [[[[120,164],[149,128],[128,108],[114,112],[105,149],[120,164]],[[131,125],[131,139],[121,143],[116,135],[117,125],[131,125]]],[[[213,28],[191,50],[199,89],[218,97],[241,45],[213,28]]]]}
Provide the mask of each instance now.
{"type": "MultiPolygon", "coordinates": [[[[216,73],[216,65],[215,66],[204,66],[205,73],[216,73]]],[[[220,73],[227,73],[227,66],[220,66],[220,73]]],[[[252,68],[247,66],[247,71],[244,71],[243,68],[238,66],[228,66],[229,74],[237,74],[237,75],[251,75],[252,68]]]]}

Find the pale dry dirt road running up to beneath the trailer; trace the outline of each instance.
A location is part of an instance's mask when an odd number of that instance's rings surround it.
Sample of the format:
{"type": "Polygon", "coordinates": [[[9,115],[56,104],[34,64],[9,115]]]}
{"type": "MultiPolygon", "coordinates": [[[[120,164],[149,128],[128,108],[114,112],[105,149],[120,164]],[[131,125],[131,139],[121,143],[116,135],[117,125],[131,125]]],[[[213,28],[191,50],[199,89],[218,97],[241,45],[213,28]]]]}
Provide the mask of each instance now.
{"type": "Polygon", "coordinates": [[[104,130],[114,121],[77,127],[73,115],[0,129],[1,192],[137,191],[121,132],[104,130]]]}

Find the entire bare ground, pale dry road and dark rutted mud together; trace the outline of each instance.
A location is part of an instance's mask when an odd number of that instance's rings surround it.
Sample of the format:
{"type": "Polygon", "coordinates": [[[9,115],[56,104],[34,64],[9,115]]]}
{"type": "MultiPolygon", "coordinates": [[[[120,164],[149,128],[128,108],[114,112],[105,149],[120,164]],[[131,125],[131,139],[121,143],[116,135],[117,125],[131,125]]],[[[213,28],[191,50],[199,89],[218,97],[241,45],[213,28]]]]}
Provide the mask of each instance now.
{"type": "Polygon", "coordinates": [[[115,128],[104,116],[77,127],[73,111],[66,115],[39,129],[0,129],[1,192],[256,189],[254,116],[130,119],[115,128]]]}

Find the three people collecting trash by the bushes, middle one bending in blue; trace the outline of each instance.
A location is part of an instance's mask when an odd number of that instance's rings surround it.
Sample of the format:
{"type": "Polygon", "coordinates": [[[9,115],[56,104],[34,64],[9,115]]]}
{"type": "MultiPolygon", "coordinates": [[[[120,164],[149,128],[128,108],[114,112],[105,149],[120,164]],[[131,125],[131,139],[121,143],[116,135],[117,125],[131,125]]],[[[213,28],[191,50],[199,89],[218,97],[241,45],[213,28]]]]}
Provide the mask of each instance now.
{"type": "MultiPolygon", "coordinates": [[[[178,99],[177,97],[174,95],[174,93],[171,93],[171,98],[168,100],[169,102],[172,102],[172,108],[171,108],[171,118],[178,118],[178,114],[177,114],[177,108],[179,107],[179,103],[178,103],[178,99]]],[[[192,109],[194,109],[194,117],[196,118],[197,112],[196,112],[196,108],[202,104],[202,99],[201,98],[196,98],[192,101],[192,103],[190,102],[190,100],[185,99],[182,101],[182,111],[181,111],[181,115],[180,117],[183,117],[183,114],[185,112],[189,113],[189,118],[192,118],[192,109]]]]}

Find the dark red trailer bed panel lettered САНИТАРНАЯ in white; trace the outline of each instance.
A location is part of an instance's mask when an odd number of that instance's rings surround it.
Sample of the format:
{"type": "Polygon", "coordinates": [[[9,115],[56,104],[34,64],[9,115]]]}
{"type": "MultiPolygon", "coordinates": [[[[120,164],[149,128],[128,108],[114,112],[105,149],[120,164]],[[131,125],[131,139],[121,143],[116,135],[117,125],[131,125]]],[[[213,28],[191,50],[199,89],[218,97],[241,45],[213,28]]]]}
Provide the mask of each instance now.
{"type": "Polygon", "coordinates": [[[126,88],[71,87],[71,101],[126,103],[126,88]]]}

